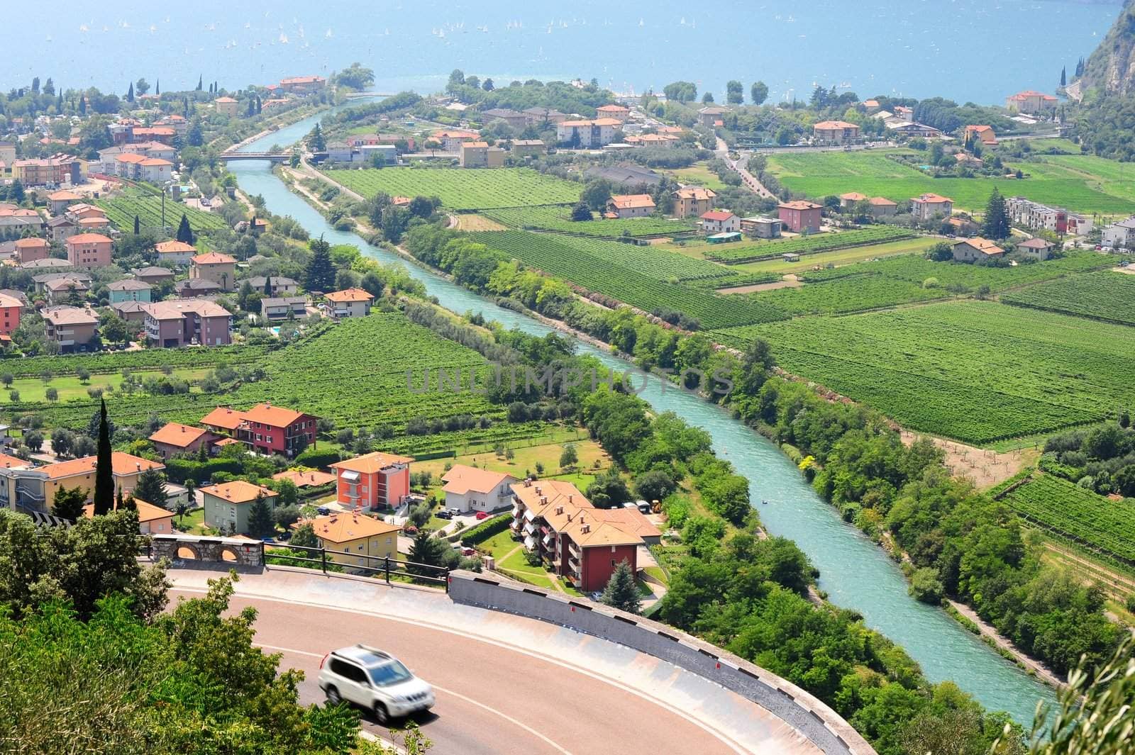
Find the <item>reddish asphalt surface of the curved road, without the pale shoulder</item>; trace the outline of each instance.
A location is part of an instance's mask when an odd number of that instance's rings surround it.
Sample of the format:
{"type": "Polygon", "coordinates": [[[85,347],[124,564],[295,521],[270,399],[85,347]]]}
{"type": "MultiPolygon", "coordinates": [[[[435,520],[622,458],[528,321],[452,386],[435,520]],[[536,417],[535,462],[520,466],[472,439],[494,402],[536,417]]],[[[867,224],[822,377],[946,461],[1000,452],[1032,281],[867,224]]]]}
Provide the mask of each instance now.
{"type": "MultiPolygon", "coordinates": [[[[174,591],[194,596],[195,592],[174,591]]],[[[586,669],[465,633],[345,609],[234,596],[259,611],[257,641],[305,673],[301,698],[321,702],[316,684],[328,651],[364,642],[398,656],[435,686],[437,705],[419,715],[431,755],[663,755],[749,752],[676,706],[586,669]]],[[[389,732],[364,718],[364,728],[389,732]]]]}

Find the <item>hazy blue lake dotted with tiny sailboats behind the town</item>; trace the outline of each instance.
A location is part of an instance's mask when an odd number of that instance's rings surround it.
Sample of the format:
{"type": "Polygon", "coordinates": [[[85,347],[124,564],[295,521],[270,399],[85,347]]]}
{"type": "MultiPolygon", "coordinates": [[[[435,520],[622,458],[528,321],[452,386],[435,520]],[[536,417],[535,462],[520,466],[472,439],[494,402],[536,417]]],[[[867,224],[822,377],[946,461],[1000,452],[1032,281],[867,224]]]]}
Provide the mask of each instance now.
{"type": "Polygon", "coordinates": [[[718,102],[726,80],[748,92],[759,78],[773,101],[807,99],[818,83],[860,97],[1000,103],[1023,88],[1052,91],[1061,66],[1087,57],[1120,8],[1118,0],[62,6],[20,6],[20,33],[6,40],[6,90],[32,76],[119,93],[140,76],[166,90],[203,76],[232,90],[360,61],[375,69],[378,91],[436,91],[461,68],[497,83],[594,77],[621,92],[688,79],[718,102]]]}

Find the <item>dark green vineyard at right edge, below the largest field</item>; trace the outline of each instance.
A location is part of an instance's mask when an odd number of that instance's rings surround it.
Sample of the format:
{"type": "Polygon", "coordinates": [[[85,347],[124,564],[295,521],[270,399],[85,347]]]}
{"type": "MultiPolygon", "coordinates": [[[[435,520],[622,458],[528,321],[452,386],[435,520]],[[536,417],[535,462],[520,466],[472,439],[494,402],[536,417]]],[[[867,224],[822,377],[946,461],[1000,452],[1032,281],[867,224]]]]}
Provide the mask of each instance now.
{"type": "Polygon", "coordinates": [[[1034,474],[1002,499],[1028,520],[1135,566],[1135,500],[1112,501],[1074,482],[1034,474]]]}

